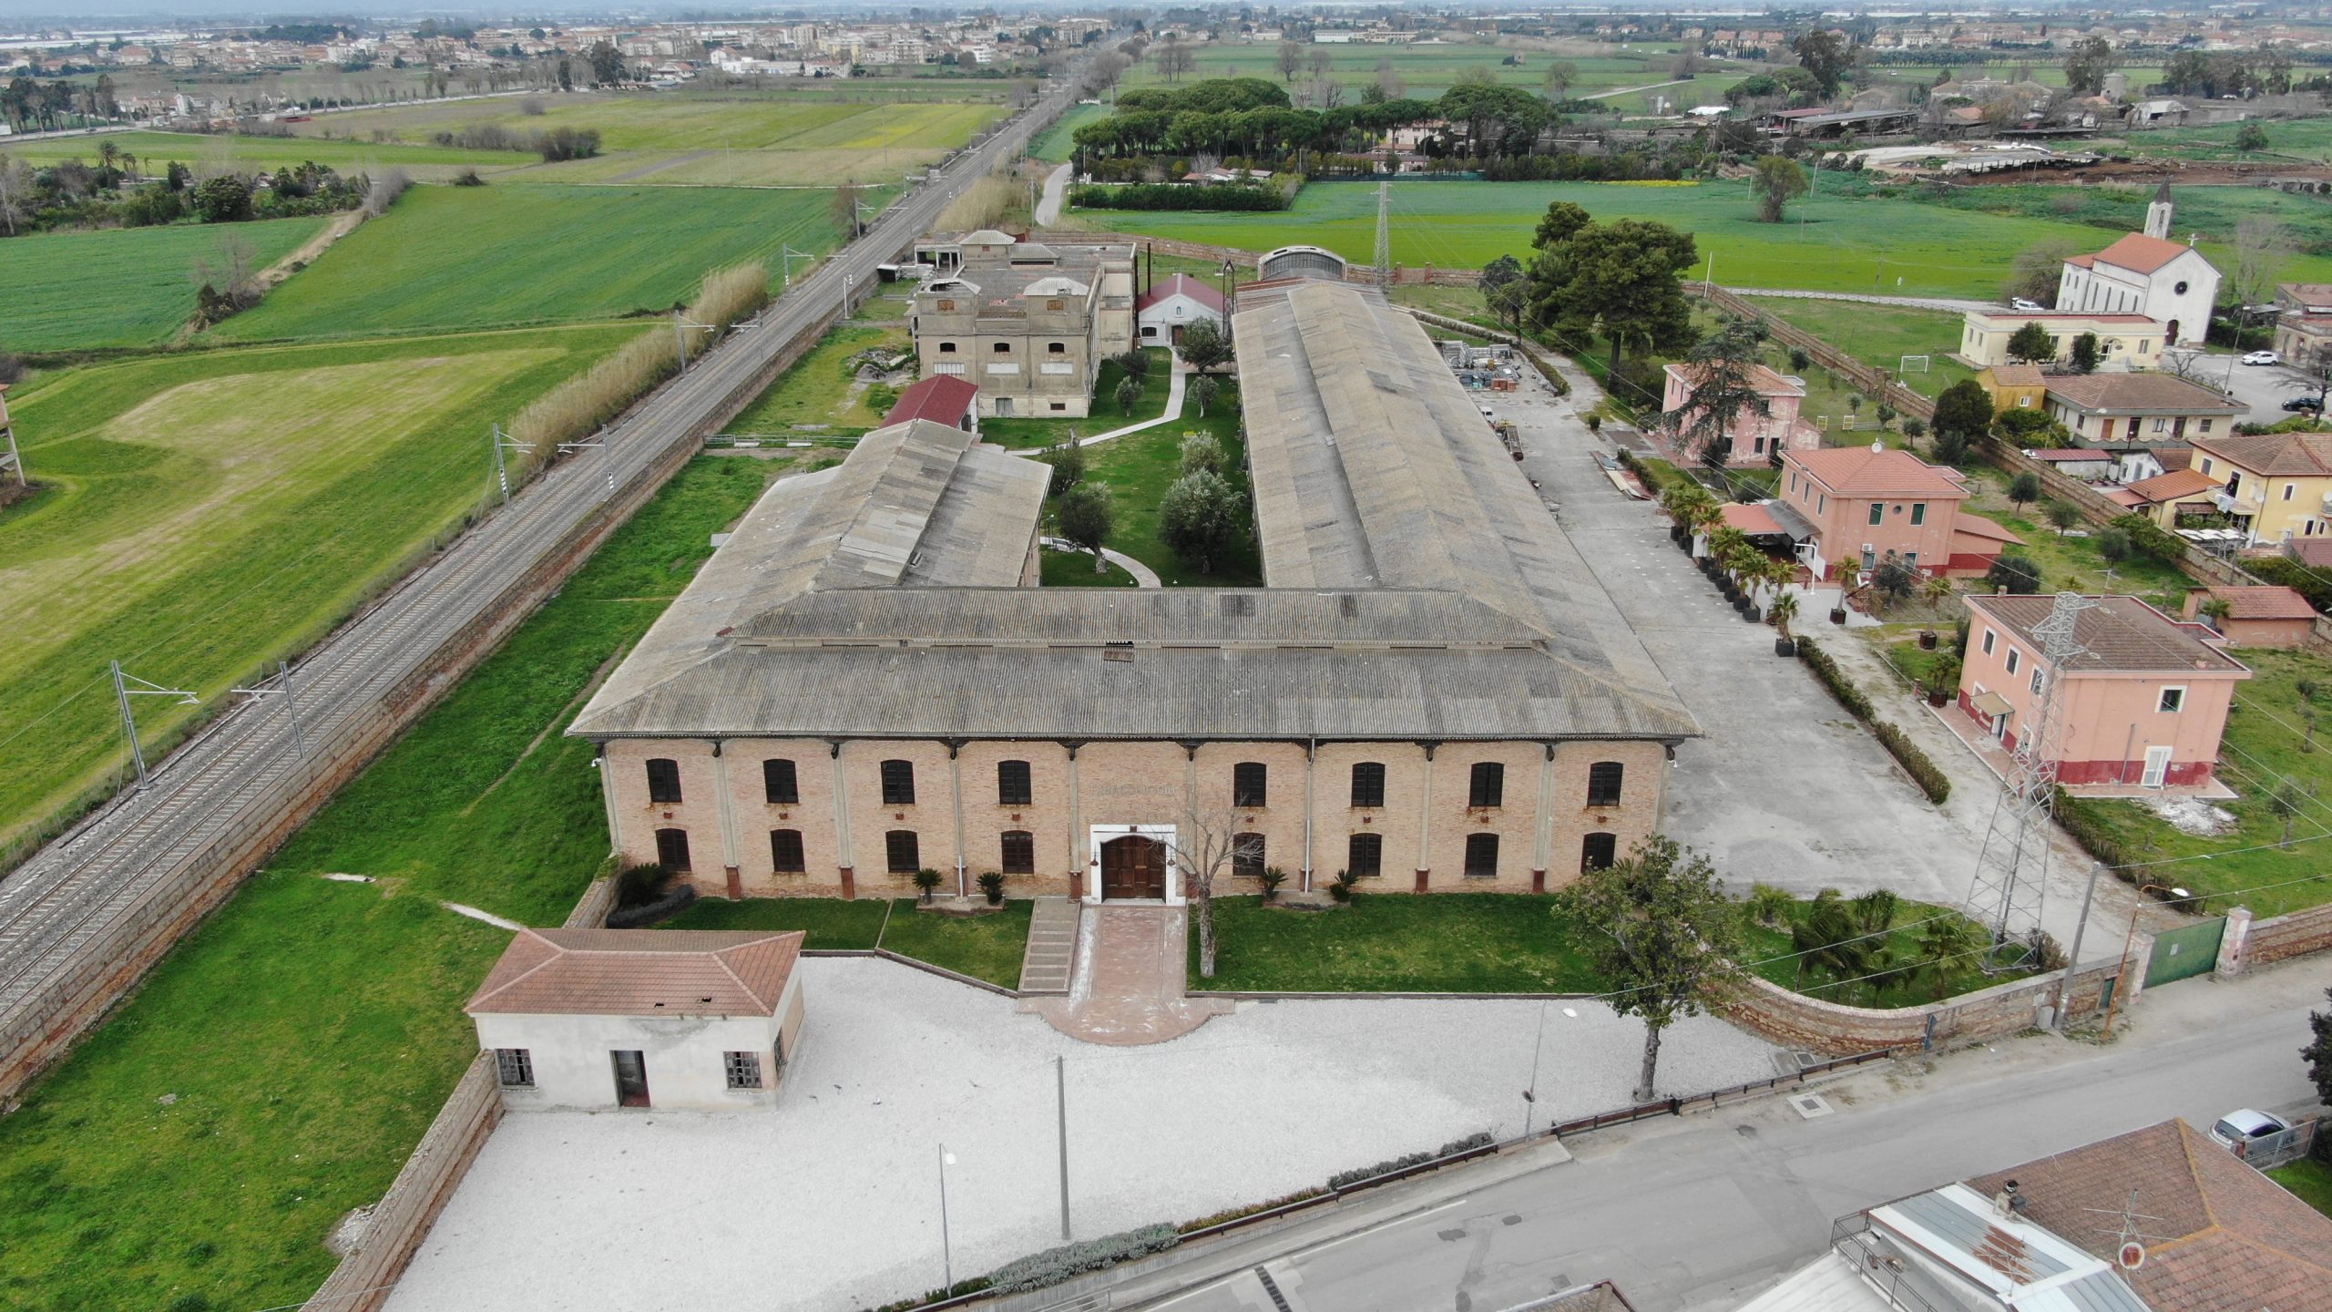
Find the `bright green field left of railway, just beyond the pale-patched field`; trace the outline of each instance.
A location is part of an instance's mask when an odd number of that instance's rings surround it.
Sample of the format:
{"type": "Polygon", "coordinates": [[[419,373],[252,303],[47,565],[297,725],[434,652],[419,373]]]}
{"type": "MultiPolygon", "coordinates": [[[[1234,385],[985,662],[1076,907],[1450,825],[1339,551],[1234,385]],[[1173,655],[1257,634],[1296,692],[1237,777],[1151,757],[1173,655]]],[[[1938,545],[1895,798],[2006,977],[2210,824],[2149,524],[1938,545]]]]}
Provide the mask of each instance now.
{"type": "Polygon", "coordinates": [[[711,268],[772,257],[779,243],[823,252],[837,236],[826,191],[415,187],[212,336],[287,341],[669,313],[711,268]]]}

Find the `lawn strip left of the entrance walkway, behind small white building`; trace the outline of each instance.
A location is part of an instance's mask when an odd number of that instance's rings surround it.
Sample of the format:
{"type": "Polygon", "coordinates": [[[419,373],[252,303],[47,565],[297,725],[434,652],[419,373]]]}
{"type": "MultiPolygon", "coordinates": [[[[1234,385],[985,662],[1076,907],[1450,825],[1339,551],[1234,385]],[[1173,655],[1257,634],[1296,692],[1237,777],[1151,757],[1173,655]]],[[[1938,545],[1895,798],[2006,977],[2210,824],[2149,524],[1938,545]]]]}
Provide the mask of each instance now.
{"type": "Polygon", "coordinates": [[[805,948],[886,948],[1003,988],[1019,988],[1033,901],[1007,901],[986,915],[916,910],[912,896],[749,896],[697,899],[658,929],[805,929],[805,948]]]}

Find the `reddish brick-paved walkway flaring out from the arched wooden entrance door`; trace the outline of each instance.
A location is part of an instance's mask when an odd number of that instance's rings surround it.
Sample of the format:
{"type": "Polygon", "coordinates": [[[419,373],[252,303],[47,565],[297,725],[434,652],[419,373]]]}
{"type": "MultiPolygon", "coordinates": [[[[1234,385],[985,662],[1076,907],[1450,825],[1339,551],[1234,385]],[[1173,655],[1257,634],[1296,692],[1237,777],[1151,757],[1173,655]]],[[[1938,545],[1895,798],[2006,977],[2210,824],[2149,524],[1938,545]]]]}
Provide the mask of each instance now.
{"type": "Polygon", "coordinates": [[[1077,922],[1077,969],[1068,997],[1021,1002],[1047,1025],[1117,1048],[1180,1039],[1215,1016],[1222,997],[1182,997],[1189,969],[1187,920],[1180,906],[1089,906],[1077,922]]]}

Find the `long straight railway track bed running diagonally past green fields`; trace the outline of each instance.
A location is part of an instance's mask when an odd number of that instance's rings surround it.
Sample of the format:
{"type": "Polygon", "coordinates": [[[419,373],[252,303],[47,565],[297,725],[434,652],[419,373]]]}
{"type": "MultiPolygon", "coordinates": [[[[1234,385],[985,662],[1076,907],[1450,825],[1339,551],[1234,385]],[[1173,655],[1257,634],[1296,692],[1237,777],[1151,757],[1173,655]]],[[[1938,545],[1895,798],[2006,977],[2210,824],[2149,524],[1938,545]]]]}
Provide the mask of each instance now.
{"type": "MultiPolygon", "coordinates": [[[[145,791],[117,796],[0,880],[0,1095],[135,983],[152,943],[187,929],[222,866],[264,850],[252,847],[254,833],[285,831],[298,803],[317,801],[317,780],[352,768],[378,747],[382,724],[417,714],[450,684],[429,677],[438,651],[490,623],[499,598],[541,586],[562,542],[606,502],[655,481],[653,469],[676,446],[693,446],[751,402],[772,357],[828,322],[856,287],[872,287],[877,264],[1073,98],[1075,84],[1061,82],[961,152],[884,210],[868,236],[604,430],[599,451],[553,465],[301,658],[292,684],[305,754],[294,747],[292,698],[254,698],[161,761],[145,791]]],[[[478,451],[480,467],[487,455],[478,451]]]]}

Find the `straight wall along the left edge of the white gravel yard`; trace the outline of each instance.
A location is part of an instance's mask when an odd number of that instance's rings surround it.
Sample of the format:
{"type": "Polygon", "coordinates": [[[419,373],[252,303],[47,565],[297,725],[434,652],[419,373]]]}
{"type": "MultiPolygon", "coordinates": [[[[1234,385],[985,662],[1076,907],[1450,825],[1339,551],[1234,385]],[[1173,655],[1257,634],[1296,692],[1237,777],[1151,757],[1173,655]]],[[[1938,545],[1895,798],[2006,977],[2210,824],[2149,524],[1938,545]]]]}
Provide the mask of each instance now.
{"type": "MultiPolygon", "coordinates": [[[[588,896],[588,894],[585,894],[588,896]]],[[[364,1237],[340,1258],[324,1284],[308,1296],[305,1312],[373,1312],[389,1300],[396,1277],[429,1235],[431,1221],[462,1186],[469,1163],[501,1123],[501,1088],[494,1055],[478,1053],[452,1086],[420,1146],[396,1172],[396,1184],[373,1205],[364,1237]]]]}

